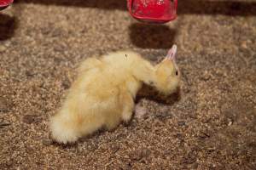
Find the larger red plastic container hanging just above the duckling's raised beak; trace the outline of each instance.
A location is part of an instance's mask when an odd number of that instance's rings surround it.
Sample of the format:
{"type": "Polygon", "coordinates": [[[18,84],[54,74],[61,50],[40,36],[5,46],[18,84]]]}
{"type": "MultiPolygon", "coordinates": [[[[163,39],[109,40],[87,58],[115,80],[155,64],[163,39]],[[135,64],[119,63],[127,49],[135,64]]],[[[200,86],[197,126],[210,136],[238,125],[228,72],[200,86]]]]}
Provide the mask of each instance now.
{"type": "Polygon", "coordinates": [[[177,0],[128,0],[131,16],[150,23],[166,23],[177,17],[177,0]]]}

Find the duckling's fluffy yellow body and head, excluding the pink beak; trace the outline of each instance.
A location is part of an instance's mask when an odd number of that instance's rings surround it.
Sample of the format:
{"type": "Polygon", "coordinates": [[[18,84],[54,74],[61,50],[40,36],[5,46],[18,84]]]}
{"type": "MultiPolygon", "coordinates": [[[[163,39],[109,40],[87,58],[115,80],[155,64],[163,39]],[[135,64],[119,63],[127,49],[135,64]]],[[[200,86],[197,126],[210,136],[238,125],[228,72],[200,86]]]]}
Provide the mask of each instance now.
{"type": "Polygon", "coordinates": [[[60,111],[50,119],[52,138],[72,143],[99,128],[113,130],[120,122],[129,122],[143,83],[172,94],[179,82],[176,74],[174,60],[151,65],[131,51],[85,59],[60,111]]]}

